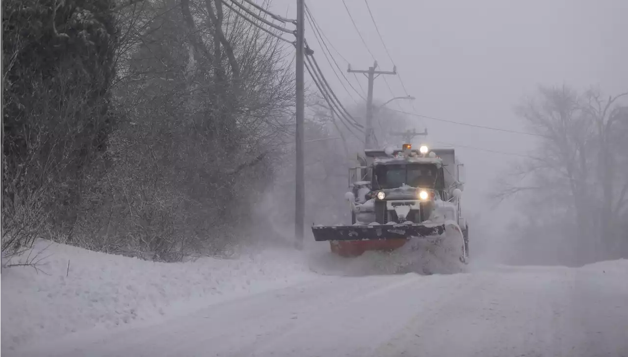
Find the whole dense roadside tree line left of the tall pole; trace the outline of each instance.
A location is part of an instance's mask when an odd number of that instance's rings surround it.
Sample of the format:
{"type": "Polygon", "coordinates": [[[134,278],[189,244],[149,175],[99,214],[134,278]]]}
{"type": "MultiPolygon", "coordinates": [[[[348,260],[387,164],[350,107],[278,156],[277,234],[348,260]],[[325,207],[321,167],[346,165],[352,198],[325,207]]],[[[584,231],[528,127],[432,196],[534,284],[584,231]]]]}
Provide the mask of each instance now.
{"type": "Polygon", "coordinates": [[[239,234],[291,138],[293,48],[214,0],[3,4],[5,254],[176,261],[239,234]]]}

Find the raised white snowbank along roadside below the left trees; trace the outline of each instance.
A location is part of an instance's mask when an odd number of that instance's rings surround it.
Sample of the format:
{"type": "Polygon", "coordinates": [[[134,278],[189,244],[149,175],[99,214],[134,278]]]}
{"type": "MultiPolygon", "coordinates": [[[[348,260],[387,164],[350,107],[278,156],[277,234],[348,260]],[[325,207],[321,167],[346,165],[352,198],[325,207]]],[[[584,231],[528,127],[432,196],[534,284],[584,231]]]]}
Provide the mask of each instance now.
{"type": "MultiPolygon", "coordinates": [[[[287,250],[185,263],[149,262],[44,241],[30,258],[38,252],[40,257],[50,255],[39,271],[11,267],[0,275],[2,349],[85,329],[152,321],[313,276],[298,253],[287,250]]],[[[13,258],[9,264],[25,259],[13,258]]]]}

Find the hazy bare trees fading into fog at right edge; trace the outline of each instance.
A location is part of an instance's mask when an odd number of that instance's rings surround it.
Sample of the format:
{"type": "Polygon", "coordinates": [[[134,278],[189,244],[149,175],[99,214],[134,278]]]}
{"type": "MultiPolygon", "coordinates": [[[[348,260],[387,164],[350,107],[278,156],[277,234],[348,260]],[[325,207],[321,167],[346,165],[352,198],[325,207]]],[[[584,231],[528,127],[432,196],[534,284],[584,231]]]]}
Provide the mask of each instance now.
{"type": "Polygon", "coordinates": [[[502,200],[525,192],[519,197],[528,205],[529,223],[562,226],[563,235],[572,236],[570,248],[579,245],[582,255],[587,250],[595,259],[616,253],[617,244],[628,247],[618,243],[628,188],[626,171],[618,166],[625,160],[620,149],[625,144],[615,134],[625,120],[624,109],[616,105],[624,95],[604,100],[593,90],[539,88],[538,97],[516,109],[539,135],[538,150],[511,169],[495,194],[502,200]]]}

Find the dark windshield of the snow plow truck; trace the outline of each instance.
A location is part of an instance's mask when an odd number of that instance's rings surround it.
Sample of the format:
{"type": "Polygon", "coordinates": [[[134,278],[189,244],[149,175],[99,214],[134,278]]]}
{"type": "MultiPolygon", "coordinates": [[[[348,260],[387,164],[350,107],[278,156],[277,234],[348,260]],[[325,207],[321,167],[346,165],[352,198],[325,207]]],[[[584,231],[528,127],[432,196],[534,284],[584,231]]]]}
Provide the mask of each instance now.
{"type": "Polygon", "coordinates": [[[436,188],[438,169],[433,164],[378,165],[374,169],[373,186],[398,188],[403,184],[413,187],[436,188]]]}

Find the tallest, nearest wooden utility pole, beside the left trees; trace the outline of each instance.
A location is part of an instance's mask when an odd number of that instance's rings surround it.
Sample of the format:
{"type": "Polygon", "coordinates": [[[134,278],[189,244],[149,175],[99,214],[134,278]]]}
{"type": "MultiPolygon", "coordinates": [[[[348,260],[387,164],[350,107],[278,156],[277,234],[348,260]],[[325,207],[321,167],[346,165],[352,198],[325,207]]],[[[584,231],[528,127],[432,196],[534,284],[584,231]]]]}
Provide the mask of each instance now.
{"type": "Polygon", "coordinates": [[[296,0],[296,188],[295,188],[295,239],[296,248],[303,248],[305,221],[305,164],[303,129],[305,121],[305,0],[296,0]]]}

